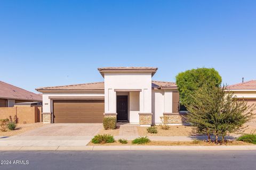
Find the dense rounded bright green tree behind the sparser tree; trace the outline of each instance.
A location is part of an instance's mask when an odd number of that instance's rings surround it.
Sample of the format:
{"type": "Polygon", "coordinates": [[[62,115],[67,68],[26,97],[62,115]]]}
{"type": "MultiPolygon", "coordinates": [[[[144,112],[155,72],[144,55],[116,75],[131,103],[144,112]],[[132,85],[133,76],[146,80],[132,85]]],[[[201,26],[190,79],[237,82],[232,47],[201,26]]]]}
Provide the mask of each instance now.
{"type": "Polygon", "coordinates": [[[198,68],[179,73],[176,76],[176,83],[179,88],[181,104],[191,104],[193,102],[191,96],[204,84],[207,84],[209,88],[219,87],[221,81],[221,76],[215,69],[198,68]]]}

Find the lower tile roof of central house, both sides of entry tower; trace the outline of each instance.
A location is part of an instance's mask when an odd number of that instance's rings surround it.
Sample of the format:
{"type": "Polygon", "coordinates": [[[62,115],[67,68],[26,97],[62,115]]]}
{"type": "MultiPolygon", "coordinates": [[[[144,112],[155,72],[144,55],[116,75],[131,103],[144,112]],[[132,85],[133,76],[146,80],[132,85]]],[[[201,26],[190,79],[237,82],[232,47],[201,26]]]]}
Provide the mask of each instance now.
{"type": "MultiPolygon", "coordinates": [[[[173,82],[152,81],[152,88],[177,89],[177,85],[173,82]]],[[[36,90],[104,90],[104,82],[73,84],[68,86],[42,87],[37,88],[36,90]]]]}

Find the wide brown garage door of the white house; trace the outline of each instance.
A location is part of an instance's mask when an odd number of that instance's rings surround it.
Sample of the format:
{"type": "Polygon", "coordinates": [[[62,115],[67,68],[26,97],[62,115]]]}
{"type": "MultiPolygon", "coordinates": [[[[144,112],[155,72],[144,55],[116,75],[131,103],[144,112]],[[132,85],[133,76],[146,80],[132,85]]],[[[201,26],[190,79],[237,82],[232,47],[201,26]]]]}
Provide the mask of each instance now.
{"type": "Polygon", "coordinates": [[[54,123],[102,123],[104,100],[53,100],[54,123]]]}

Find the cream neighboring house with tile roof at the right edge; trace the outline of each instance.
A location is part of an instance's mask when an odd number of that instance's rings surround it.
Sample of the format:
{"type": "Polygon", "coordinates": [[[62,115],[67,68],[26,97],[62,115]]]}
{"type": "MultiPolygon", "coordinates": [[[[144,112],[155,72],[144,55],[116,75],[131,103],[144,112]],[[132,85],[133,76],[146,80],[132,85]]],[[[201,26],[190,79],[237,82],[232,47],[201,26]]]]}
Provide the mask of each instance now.
{"type": "Polygon", "coordinates": [[[237,83],[227,88],[233,91],[237,98],[247,101],[248,105],[256,105],[256,80],[237,83]]]}

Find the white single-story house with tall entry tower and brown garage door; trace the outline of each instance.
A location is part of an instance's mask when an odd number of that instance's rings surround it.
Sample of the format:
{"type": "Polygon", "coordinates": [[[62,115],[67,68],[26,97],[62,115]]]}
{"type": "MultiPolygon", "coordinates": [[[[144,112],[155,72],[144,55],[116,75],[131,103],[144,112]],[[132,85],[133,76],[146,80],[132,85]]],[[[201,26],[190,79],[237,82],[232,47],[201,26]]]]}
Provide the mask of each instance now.
{"type": "Polygon", "coordinates": [[[103,67],[104,82],[37,88],[43,94],[45,123],[102,123],[103,117],[151,125],[184,123],[173,82],[153,81],[155,67],[103,67]]]}

